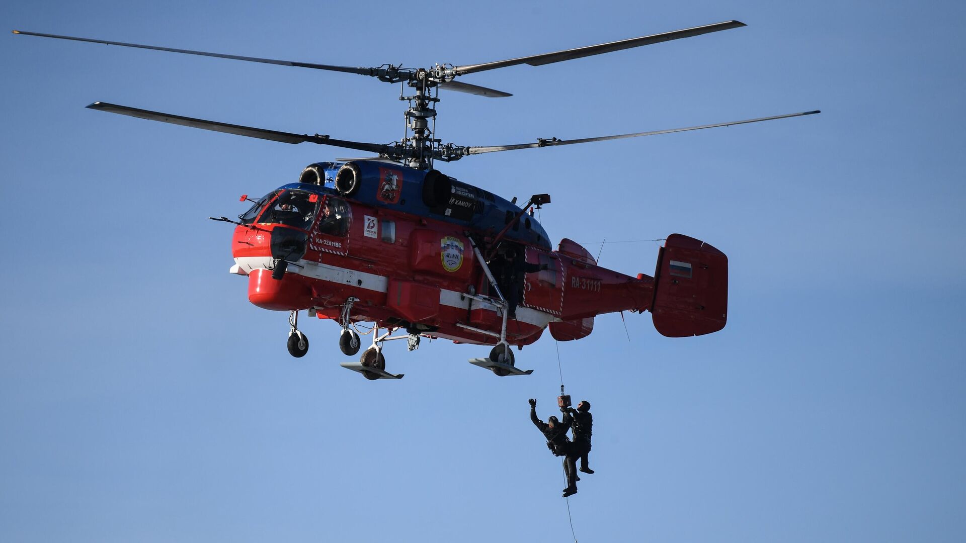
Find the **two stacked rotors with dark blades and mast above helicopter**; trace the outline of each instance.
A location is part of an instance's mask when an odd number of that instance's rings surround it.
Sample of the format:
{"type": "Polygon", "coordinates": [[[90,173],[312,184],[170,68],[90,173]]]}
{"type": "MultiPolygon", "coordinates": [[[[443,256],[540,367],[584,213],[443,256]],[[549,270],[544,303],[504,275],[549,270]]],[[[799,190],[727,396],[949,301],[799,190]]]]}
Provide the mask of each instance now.
{"type": "Polygon", "coordinates": [[[549,139],[538,138],[536,142],[513,144],[513,145],[467,147],[467,146],[458,146],[451,143],[443,144],[441,143],[440,139],[437,139],[434,137],[435,129],[434,127],[431,126],[430,122],[435,121],[437,112],[435,108],[431,107],[431,104],[435,104],[440,100],[438,95],[440,89],[446,90],[446,91],[468,93],[471,95],[487,97],[487,98],[505,98],[505,97],[512,96],[509,93],[498,91],[496,89],[490,89],[479,85],[473,85],[470,83],[457,81],[456,80],[457,77],[461,77],[469,73],[497,70],[499,68],[507,68],[510,66],[518,66],[521,64],[526,64],[529,66],[543,66],[545,64],[553,64],[556,62],[574,60],[574,59],[579,59],[579,58],[588,57],[592,55],[599,55],[603,53],[609,53],[612,51],[619,51],[622,49],[629,49],[632,47],[649,45],[652,43],[662,43],[662,42],[668,42],[671,40],[678,40],[681,38],[691,38],[694,36],[699,36],[701,34],[719,32],[722,30],[728,30],[728,29],[738,28],[742,26],[746,26],[745,23],[736,21],[736,20],[729,20],[729,21],[718,22],[714,24],[708,24],[704,26],[696,26],[693,28],[674,30],[674,31],[665,32],[662,34],[652,34],[649,36],[641,36],[639,38],[631,38],[628,40],[621,40],[621,41],[610,42],[610,43],[598,43],[596,45],[588,45],[585,47],[578,47],[574,49],[564,49],[564,50],[555,51],[552,53],[530,55],[526,57],[501,60],[497,62],[468,64],[468,65],[437,64],[432,68],[426,68],[426,69],[411,69],[411,68],[404,68],[402,66],[394,66],[390,64],[384,64],[382,66],[378,66],[375,68],[362,68],[362,67],[354,68],[349,66],[334,66],[334,65],[327,65],[327,64],[294,62],[294,61],[287,61],[287,60],[275,60],[275,59],[266,59],[266,58],[258,58],[258,57],[247,57],[247,56],[240,56],[240,55],[229,55],[229,54],[222,54],[222,53],[211,53],[211,52],[205,52],[205,51],[194,51],[189,49],[176,49],[171,47],[160,47],[156,45],[144,45],[140,43],[109,42],[106,40],[76,38],[72,36],[59,36],[54,34],[42,34],[38,32],[26,32],[26,31],[20,31],[20,30],[14,30],[14,34],[21,34],[25,36],[39,36],[43,38],[55,38],[59,40],[72,40],[75,42],[90,42],[90,43],[104,43],[108,45],[121,45],[125,47],[154,49],[158,51],[168,51],[168,52],[174,52],[174,53],[184,53],[184,54],[191,54],[191,55],[226,58],[226,59],[232,59],[232,60],[258,62],[263,64],[274,64],[274,65],[280,65],[280,66],[310,68],[314,70],[341,71],[345,73],[356,73],[359,75],[368,75],[370,77],[375,77],[376,79],[386,83],[402,83],[404,85],[411,87],[412,90],[414,91],[412,96],[402,97],[403,100],[409,100],[409,103],[410,103],[410,107],[406,111],[406,135],[402,141],[392,142],[388,144],[341,140],[341,139],[335,139],[335,138],[329,137],[328,135],[320,135],[318,133],[314,135],[308,135],[308,134],[297,134],[297,133],[291,133],[291,132],[282,132],[282,131],[270,130],[270,129],[243,127],[241,125],[230,125],[227,123],[207,121],[204,119],[194,119],[191,117],[185,117],[181,115],[161,113],[157,111],[150,111],[147,109],[139,109],[135,107],[129,107],[126,105],[106,103],[102,101],[96,101],[88,105],[87,107],[92,109],[97,109],[100,111],[107,111],[110,113],[118,113],[121,115],[138,117],[141,119],[161,121],[164,123],[183,125],[185,127],[192,127],[196,129],[209,129],[209,130],[239,134],[239,135],[244,135],[249,137],[257,137],[261,139],[268,139],[271,141],[279,141],[282,143],[296,144],[296,143],[302,143],[302,142],[310,142],[310,143],[317,143],[321,145],[342,147],[345,149],[354,149],[356,151],[375,153],[379,157],[382,157],[384,159],[403,162],[406,165],[414,168],[428,169],[433,167],[434,160],[452,161],[452,160],[458,160],[462,157],[468,157],[470,155],[480,155],[483,153],[495,153],[497,151],[512,151],[512,150],[518,150],[518,149],[532,149],[532,148],[538,148],[538,147],[554,147],[558,145],[573,145],[577,143],[606,141],[611,139],[639,137],[639,136],[655,135],[655,134],[662,134],[662,133],[669,133],[669,132],[679,132],[679,131],[696,130],[696,129],[711,129],[715,127],[726,127],[729,125],[757,123],[760,121],[771,121],[775,119],[799,117],[803,115],[811,115],[814,113],[819,113],[819,111],[817,110],[805,111],[801,113],[789,113],[789,114],[776,115],[771,117],[761,117],[757,119],[746,119],[742,121],[717,123],[713,125],[701,125],[696,127],[687,127],[687,128],[680,128],[680,129],[651,130],[651,131],[605,135],[605,136],[579,138],[579,139],[557,139],[555,137],[549,138],[549,139]]]}

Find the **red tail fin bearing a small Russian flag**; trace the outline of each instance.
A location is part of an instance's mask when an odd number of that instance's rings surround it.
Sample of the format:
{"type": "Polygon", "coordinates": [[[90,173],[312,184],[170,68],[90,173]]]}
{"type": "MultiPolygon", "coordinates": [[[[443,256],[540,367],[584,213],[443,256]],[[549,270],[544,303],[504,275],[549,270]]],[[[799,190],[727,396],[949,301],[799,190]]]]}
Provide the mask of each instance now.
{"type": "Polygon", "coordinates": [[[671,234],[654,273],[654,328],[668,337],[725,328],[727,257],[708,243],[671,234]]]}

